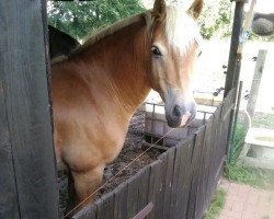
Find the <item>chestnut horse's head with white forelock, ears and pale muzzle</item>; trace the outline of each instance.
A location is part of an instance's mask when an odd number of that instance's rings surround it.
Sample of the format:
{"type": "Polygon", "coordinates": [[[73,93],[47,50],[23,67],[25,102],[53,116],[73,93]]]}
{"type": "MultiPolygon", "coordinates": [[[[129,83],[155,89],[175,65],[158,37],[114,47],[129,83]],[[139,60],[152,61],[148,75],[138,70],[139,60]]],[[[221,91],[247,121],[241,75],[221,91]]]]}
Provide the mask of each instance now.
{"type": "Polygon", "coordinates": [[[202,38],[195,22],[202,5],[203,0],[189,11],[165,7],[164,0],[153,5],[150,82],[164,101],[170,127],[185,126],[196,114],[191,78],[202,38]]]}

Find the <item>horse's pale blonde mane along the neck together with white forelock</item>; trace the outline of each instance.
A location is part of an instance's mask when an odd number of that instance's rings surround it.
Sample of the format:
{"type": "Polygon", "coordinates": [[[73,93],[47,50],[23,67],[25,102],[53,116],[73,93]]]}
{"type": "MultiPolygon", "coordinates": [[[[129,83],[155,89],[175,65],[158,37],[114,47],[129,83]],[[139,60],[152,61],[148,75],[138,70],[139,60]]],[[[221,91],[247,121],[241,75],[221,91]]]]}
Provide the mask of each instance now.
{"type": "MultiPolygon", "coordinates": [[[[89,46],[95,44],[102,38],[123,30],[129,24],[141,21],[142,19],[145,19],[147,27],[150,28],[153,22],[151,10],[129,16],[93,33],[91,36],[88,36],[84,43],[77,47],[69,56],[87,49],[89,46]]],[[[170,42],[171,46],[179,48],[181,56],[187,53],[189,47],[194,41],[201,44],[202,36],[199,34],[197,24],[186,11],[178,9],[173,5],[168,5],[167,18],[164,21],[165,22],[163,25],[165,26],[165,36],[168,42],[170,42]]]]}

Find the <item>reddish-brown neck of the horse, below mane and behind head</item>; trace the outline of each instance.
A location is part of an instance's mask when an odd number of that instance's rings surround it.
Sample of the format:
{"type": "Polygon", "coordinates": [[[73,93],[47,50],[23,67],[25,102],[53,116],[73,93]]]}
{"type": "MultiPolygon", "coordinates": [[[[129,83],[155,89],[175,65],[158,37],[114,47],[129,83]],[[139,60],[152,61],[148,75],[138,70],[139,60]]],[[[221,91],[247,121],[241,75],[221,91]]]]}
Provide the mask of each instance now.
{"type": "Polygon", "coordinates": [[[113,106],[132,115],[149,92],[144,21],[130,24],[87,48],[87,77],[113,106]],[[100,80],[99,80],[100,79],[100,80]]]}

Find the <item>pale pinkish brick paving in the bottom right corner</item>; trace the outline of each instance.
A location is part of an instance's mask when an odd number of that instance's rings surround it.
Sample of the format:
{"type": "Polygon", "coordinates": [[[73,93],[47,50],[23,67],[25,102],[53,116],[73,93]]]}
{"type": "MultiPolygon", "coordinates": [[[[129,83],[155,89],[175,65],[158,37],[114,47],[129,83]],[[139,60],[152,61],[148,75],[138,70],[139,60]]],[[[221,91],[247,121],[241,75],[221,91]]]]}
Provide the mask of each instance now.
{"type": "Polygon", "coordinates": [[[222,178],[227,191],[224,209],[218,219],[274,219],[274,189],[262,189],[222,178]]]}

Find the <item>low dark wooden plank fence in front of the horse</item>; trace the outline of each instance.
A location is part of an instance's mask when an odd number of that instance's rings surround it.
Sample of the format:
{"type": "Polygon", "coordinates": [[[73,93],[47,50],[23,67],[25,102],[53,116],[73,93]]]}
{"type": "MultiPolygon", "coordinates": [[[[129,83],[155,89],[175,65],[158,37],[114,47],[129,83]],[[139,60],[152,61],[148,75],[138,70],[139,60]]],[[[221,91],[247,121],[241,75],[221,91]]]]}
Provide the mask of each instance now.
{"type": "Polygon", "coordinates": [[[232,100],[230,91],[195,135],[72,218],[132,219],[153,206],[148,219],[201,219],[222,173],[232,100]]]}

